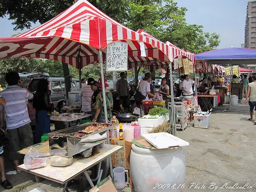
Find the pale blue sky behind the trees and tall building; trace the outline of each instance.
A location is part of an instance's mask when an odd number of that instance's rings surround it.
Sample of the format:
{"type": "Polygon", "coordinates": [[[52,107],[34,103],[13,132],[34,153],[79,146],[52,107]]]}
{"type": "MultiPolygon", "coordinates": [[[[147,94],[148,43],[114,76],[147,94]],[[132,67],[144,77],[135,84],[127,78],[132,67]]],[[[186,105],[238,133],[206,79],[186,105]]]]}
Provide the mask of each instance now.
{"type": "MultiPolygon", "coordinates": [[[[188,24],[204,26],[205,32],[217,32],[221,36],[219,48],[241,47],[244,42],[244,25],[247,0],[175,0],[179,7],[186,7],[188,24]]],[[[12,21],[0,18],[0,37],[9,37],[13,31],[12,21]]],[[[36,27],[39,24],[34,24],[36,27]]],[[[27,30],[25,30],[27,31],[27,30]]]]}

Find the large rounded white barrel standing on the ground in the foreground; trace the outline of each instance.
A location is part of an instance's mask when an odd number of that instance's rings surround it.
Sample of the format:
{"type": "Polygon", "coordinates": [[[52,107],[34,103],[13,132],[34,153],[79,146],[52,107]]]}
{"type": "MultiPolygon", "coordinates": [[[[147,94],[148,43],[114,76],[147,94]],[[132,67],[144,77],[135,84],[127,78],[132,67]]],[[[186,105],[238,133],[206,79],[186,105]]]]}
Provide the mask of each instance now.
{"type": "Polygon", "coordinates": [[[186,161],[182,147],[148,150],[132,144],[131,174],[137,192],[182,191],[186,161]]]}

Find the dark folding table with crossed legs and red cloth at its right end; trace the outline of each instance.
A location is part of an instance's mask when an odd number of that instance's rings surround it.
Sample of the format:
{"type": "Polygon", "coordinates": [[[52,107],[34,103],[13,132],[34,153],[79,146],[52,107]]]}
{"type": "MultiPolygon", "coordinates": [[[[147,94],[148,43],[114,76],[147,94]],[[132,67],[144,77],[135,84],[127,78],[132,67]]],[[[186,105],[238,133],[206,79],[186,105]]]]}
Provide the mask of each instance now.
{"type": "Polygon", "coordinates": [[[206,110],[209,111],[212,108],[214,108],[214,99],[217,98],[217,103],[218,105],[221,102],[221,94],[218,93],[217,95],[198,95],[198,98],[201,100],[198,101],[199,105],[201,106],[202,111],[206,110]]]}

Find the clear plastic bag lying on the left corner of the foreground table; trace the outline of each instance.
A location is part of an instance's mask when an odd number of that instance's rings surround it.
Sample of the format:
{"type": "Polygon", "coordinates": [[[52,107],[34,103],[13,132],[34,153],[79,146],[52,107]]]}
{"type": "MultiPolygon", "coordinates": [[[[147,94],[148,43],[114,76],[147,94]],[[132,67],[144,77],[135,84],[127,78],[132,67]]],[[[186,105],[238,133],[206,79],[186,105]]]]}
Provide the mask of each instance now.
{"type": "Polygon", "coordinates": [[[45,154],[39,153],[35,147],[31,147],[26,153],[24,158],[24,164],[27,169],[36,169],[41,167],[46,167],[47,162],[44,156],[45,154]]]}

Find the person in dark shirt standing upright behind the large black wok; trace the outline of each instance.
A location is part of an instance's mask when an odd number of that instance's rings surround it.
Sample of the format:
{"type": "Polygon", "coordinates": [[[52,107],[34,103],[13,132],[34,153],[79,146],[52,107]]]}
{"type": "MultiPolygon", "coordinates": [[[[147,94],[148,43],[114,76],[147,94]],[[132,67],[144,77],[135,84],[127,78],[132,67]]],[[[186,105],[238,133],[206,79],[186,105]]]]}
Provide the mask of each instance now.
{"type": "Polygon", "coordinates": [[[120,79],[116,82],[116,90],[119,95],[119,106],[122,113],[127,112],[129,108],[129,87],[126,81],[127,74],[124,72],[120,73],[120,79]]]}

